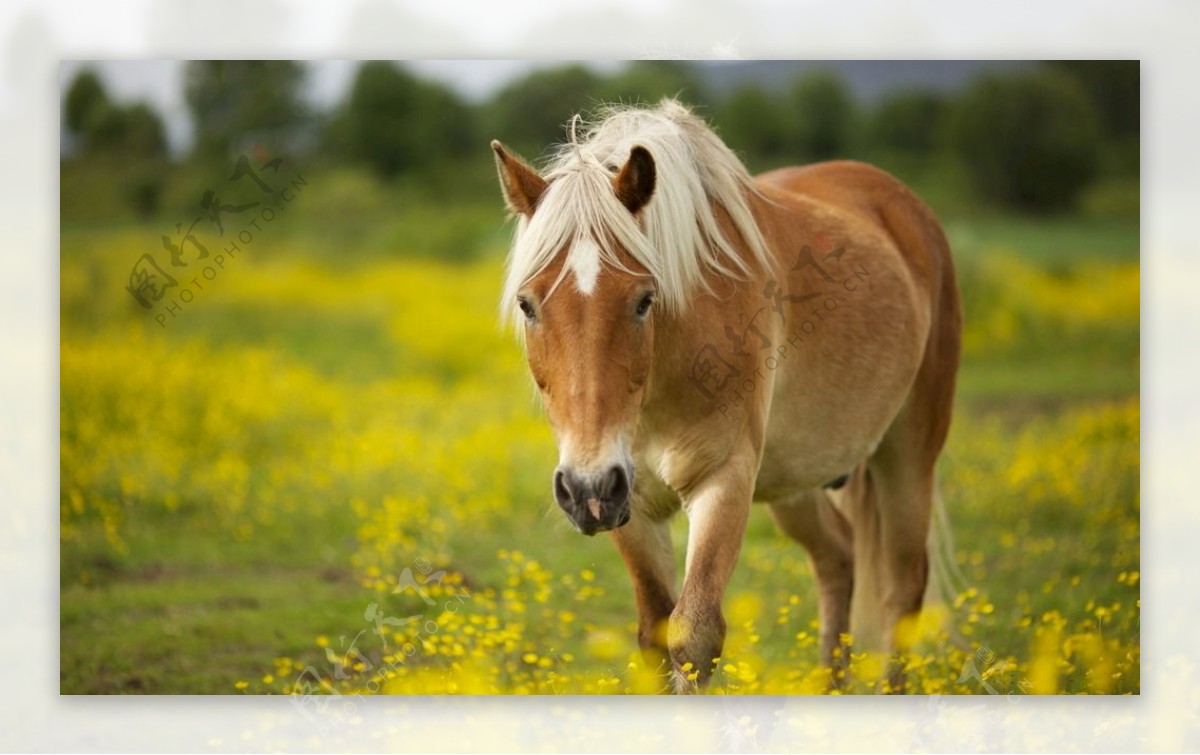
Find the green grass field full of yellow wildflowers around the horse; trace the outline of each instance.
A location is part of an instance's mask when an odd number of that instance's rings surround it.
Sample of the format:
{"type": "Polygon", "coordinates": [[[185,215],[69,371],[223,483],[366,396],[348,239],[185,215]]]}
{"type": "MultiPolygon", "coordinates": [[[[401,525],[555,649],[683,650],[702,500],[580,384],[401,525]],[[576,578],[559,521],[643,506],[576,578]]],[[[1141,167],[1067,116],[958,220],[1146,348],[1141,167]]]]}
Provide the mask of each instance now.
{"type": "MultiPolygon", "coordinates": [[[[124,287],[173,222],[64,226],[62,693],[661,687],[611,543],[552,504],[498,202],[402,215],[281,220],[166,326],[124,287]]],[[[947,228],[962,583],[911,628],[913,689],[1138,693],[1138,222],[947,228]]],[[[726,612],[713,691],[824,689],[808,564],[762,510],[726,612]]]]}

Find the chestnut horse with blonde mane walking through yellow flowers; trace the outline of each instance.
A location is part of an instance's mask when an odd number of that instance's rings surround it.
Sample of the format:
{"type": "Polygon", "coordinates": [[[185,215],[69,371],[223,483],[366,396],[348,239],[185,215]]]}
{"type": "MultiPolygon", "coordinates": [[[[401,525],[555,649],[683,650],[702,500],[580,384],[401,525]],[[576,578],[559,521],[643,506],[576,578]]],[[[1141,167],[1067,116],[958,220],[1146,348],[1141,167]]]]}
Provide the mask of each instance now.
{"type": "Polygon", "coordinates": [[[709,679],[752,501],[809,553],[824,663],[851,627],[904,651],[961,326],[930,210],[856,162],[754,179],[670,100],[583,140],[572,122],[544,175],[492,149],[517,216],[502,308],[558,442],[554,498],[611,532],[648,658],[670,658],[676,691],[709,679]]]}

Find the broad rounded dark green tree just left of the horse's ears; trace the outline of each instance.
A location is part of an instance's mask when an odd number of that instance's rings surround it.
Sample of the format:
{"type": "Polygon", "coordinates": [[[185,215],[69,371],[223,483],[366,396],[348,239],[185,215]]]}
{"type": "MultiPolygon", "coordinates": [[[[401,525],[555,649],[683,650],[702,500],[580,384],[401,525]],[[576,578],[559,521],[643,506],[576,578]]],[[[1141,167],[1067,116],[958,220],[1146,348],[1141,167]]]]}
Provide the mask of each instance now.
{"type": "Polygon", "coordinates": [[[384,178],[461,156],[478,146],[473,136],[470,109],[452,91],[384,61],[359,67],[328,134],[332,150],[384,178]]]}

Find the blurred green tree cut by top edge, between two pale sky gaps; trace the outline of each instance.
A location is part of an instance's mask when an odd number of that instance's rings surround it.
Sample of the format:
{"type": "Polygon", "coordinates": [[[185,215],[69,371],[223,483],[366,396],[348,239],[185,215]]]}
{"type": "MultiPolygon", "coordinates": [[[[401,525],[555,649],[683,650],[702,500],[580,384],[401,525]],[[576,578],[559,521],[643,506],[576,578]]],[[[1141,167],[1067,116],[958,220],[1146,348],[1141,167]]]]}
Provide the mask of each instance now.
{"type": "Polygon", "coordinates": [[[290,60],[199,60],[187,64],[184,96],[196,124],[196,154],[228,158],[248,143],[288,151],[307,124],[304,68],[290,60]]]}

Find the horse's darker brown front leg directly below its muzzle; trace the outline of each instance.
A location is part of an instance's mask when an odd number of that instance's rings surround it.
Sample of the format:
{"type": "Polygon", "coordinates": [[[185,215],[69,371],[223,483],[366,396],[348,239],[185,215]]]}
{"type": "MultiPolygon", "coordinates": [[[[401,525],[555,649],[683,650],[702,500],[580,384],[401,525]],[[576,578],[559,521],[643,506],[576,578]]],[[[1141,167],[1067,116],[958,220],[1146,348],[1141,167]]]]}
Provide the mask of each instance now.
{"type": "Polygon", "coordinates": [[[637,599],[637,643],[649,669],[670,671],[667,619],[676,606],[674,549],[666,520],[653,521],[635,507],[624,527],[612,531],[637,599]]]}

